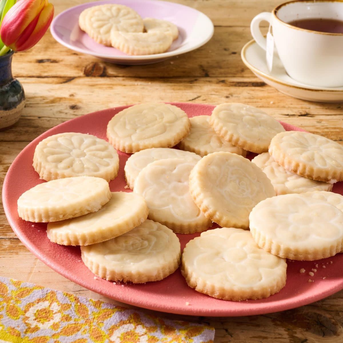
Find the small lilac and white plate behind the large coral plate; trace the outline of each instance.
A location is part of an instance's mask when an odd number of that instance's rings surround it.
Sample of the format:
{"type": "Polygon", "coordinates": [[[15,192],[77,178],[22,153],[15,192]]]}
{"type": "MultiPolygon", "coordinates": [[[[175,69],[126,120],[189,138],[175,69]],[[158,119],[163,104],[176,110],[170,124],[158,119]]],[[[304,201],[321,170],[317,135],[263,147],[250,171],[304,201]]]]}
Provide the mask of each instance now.
{"type": "Polygon", "coordinates": [[[57,42],[72,50],[119,64],[148,64],[199,48],[213,35],[213,24],[205,14],[173,2],[157,0],[106,0],[88,2],[59,14],[50,26],[57,42]],[[129,56],[118,49],[96,43],[79,28],[79,15],[88,8],[105,3],[117,3],[134,9],[142,17],[168,20],[179,28],[179,37],[163,54],[129,56]]]}

